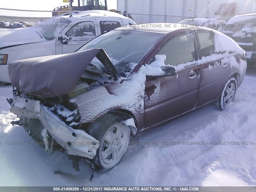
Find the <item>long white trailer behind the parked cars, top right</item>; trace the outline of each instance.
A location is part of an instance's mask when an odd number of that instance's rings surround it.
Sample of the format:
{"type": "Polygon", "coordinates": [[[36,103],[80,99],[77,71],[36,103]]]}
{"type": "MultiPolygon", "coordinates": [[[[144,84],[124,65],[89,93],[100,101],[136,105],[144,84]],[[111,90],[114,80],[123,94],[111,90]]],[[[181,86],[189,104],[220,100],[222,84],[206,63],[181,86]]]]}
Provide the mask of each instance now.
{"type": "Polygon", "coordinates": [[[117,10],[140,23],[176,23],[187,18],[217,18],[256,12],[256,0],[117,0],[117,10]]]}

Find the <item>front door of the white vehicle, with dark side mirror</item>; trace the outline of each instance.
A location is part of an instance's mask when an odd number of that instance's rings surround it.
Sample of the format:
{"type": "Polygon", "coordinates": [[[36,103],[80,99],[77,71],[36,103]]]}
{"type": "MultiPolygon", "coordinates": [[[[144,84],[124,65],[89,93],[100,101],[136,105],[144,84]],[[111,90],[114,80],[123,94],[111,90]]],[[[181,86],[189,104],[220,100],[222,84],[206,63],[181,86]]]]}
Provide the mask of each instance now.
{"type": "MultiPolygon", "coordinates": [[[[70,23],[62,31],[64,41],[56,38],[56,54],[73,53],[81,46],[98,36],[97,24],[95,19],[90,21],[70,23]]],[[[61,34],[60,34],[61,36],[61,34]]]]}

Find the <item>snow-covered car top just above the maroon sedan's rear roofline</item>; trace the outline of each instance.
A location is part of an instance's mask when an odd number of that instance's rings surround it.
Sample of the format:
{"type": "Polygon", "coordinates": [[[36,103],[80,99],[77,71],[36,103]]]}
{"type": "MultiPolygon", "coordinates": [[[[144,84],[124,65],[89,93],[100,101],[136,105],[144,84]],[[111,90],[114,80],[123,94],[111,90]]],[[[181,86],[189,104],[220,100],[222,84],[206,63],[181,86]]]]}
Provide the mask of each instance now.
{"type": "Polygon", "coordinates": [[[208,27],[214,30],[222,31],[222,28],[225,26],[226,22],[223,20],[217,20],[217,19],[208,19],[208,18],[190,18],[185,19],[178,24],[184,24],[188,25],[189,27],[208,27]]]}

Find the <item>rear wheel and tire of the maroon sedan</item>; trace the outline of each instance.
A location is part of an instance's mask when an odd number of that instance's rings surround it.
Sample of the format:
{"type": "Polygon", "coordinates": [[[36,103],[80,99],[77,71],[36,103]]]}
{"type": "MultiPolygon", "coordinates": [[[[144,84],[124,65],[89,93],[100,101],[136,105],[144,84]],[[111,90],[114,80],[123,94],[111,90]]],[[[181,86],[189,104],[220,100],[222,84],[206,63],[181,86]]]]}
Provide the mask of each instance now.
{"type": "Polygon", "coordinates": [[[233,102],[235,95],[236,95],[237,83],[235,78],[229,78],[224,88],[218,97],[218,100],[213,104],[214,106],[224,109],[230,103],[233,102]]]}

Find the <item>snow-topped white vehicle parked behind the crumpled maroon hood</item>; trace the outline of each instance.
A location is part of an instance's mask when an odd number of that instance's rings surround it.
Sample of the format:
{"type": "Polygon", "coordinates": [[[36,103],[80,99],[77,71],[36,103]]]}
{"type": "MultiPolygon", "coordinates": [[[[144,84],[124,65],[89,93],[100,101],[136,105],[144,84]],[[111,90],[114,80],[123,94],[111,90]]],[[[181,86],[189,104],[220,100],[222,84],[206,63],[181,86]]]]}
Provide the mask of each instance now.
{"type": "Polygon", "coordinates": [[[0,30],[0,82],[10,83],[11,62],[72,53],[106,31],[134,24],[118,13],[92,10],[54,16],[28,28],[0,30]]]}

